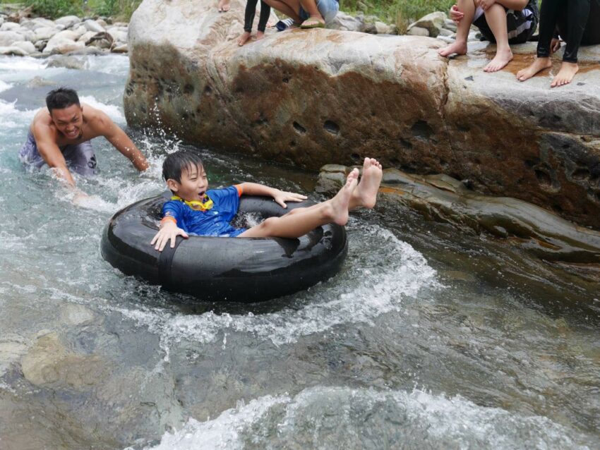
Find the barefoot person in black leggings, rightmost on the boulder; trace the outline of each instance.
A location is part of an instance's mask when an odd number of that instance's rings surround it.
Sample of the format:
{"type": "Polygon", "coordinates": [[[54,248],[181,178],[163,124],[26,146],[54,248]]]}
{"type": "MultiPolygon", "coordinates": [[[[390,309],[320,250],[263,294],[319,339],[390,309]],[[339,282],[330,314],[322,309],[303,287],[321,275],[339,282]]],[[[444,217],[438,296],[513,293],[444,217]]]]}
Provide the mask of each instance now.
{"type": "Polygon", "coordinates": [[[560,35],[567,45],[560,70],[550,87],[567,85],[579,71],[580,44],[600,44],[600,0],[544,0],[539,20],[537,57],[529,67],[517,73],[517,80],[529,80],[552,66],[550,56],[560,48],[560,35]]]}

